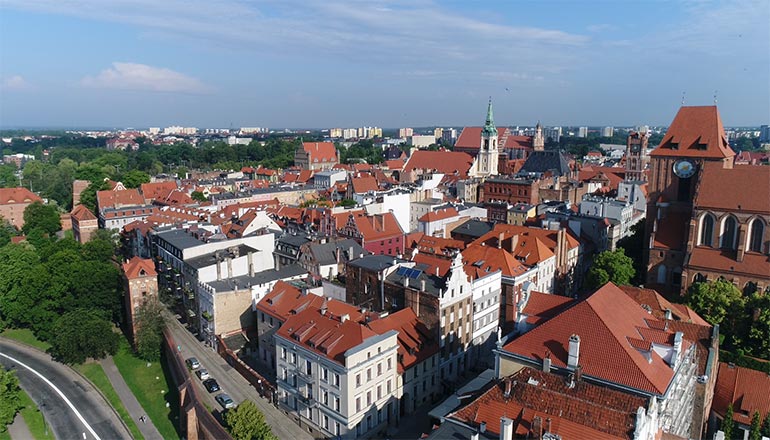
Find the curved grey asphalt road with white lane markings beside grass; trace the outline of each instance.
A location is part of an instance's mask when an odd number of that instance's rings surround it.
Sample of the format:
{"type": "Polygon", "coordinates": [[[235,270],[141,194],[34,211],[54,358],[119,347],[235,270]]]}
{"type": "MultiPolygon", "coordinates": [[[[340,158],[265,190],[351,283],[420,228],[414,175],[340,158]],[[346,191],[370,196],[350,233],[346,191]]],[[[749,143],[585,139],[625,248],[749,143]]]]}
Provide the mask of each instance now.
{"type": "Polygon", "coordinates": [[[19,384],[38,404],[53,437],[86,440],[131,438],[93,385],[66,365],[53,361],[47,354],[0,338],[0,364],[16,371],[19,384]]]}

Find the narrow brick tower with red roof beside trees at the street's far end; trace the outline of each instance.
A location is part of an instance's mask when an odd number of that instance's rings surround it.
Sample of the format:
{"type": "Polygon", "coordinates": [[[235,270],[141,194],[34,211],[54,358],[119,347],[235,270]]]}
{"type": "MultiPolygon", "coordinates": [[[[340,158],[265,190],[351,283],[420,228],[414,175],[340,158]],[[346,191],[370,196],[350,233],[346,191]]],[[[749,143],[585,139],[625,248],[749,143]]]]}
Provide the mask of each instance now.
{"type": "Polygon", "coordinates": [[[158,273],[152,260],[133,257],[123,263],[123,280],[126,286],[126,329],[136,344],[136,315],[146,301],[158,300],[158,273]]]}

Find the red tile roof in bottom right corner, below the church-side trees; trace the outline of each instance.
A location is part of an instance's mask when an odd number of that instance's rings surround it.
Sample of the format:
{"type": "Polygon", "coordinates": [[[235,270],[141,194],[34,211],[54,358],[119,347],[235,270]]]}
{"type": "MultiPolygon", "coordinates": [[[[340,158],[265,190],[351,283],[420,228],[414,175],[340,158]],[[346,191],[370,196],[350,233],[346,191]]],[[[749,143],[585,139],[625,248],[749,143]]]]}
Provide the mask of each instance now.
{"type": "Polygon", "coordinates": [[[751,416],[759,411],[760,417],[770,412],[770,375],[743,367],[719,363],[719,375],[714,387],[712,409],[724,416],[733,404],[733,420],[751,425],[751,416]]]}

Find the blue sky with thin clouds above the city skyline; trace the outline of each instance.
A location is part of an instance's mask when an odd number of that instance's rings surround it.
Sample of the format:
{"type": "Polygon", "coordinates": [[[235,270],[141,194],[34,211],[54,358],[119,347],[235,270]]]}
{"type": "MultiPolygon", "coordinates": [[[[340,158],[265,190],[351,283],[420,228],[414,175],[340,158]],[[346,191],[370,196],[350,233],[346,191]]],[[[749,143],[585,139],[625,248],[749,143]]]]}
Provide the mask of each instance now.
{"type": "Polygon", "coordinates": [[[770,122],[770,2],[1,0],[0,126],[770,122]]]}

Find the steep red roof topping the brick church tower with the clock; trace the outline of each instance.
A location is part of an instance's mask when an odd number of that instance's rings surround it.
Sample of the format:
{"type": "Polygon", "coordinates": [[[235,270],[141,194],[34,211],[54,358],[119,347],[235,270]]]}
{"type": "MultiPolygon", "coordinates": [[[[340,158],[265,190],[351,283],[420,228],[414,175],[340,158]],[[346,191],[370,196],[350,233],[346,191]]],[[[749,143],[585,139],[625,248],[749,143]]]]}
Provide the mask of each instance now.
{"type": "Polygon", "coordinates": [[[715,105],[681,107],[650,156],[725,158],[735,156],[715,105]]]}

